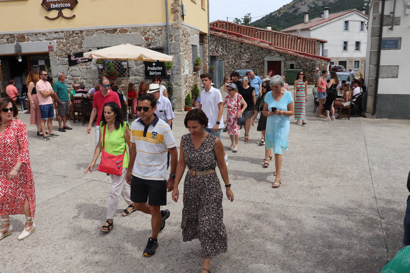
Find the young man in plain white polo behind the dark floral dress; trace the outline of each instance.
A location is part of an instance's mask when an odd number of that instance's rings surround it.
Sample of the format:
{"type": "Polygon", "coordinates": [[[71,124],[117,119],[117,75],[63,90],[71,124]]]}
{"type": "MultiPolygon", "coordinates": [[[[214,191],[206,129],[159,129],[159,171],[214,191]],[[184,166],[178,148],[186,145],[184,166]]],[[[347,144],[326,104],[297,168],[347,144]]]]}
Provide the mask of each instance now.
{"type": "MultiPolygon", "coordinates": [[[[200,94],[201,100],[198,108],[202,109],[208,117],[208,125],[204,128],[204,131],[221,139],[221,129],[223,128],[223,101],[221,92],[211,85],[211,74],[200,74],[200,78],[202,85],[204,86],[204,90],[202,90],[200,94]]],[[[228,167],[228,156],[226,156],[225,151],[223,153],[226,167],[228,167]]]]}

